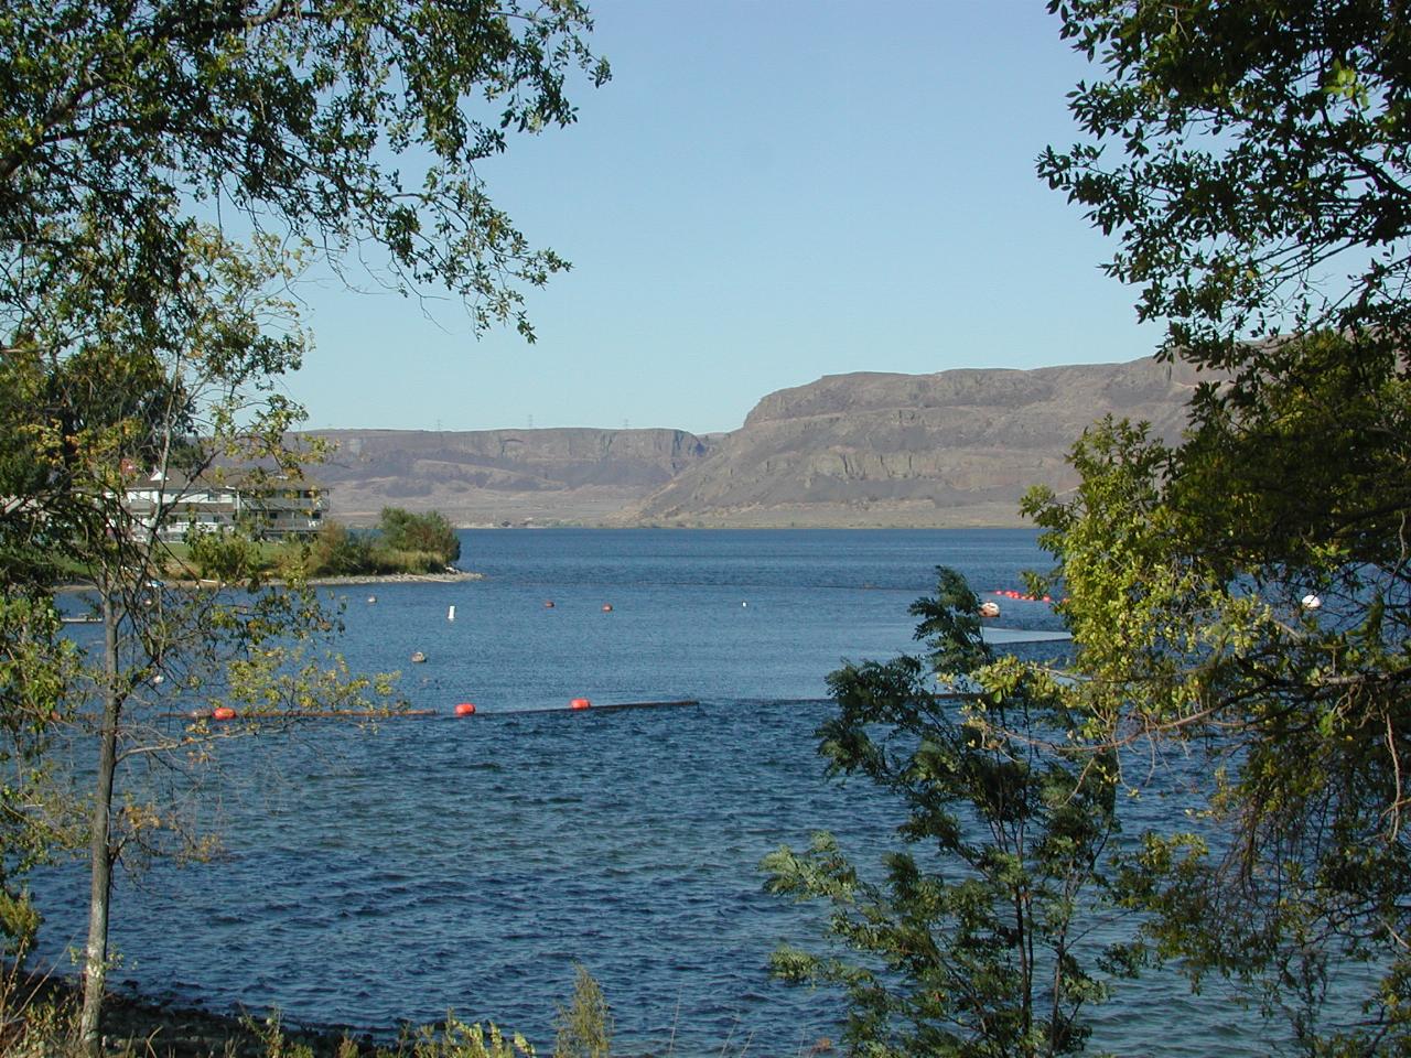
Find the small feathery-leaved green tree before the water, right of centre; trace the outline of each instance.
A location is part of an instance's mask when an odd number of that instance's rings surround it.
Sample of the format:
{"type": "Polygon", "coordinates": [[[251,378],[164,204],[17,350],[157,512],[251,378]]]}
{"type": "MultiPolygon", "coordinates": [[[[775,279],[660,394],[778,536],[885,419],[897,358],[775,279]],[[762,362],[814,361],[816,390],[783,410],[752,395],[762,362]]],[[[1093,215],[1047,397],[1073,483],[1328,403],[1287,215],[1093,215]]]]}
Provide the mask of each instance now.
{"type": "Polygon", "coordinates": [[[1085,941],[1116,831],[1115,762],[1077,739],[1062,687],[998,659],[979,601],[954,570],[919,600],[926,662],[848,664],[828,677],[838,714],[818,729],[835,776],[859,774],[906,804],[913,852],[871,882],[828,834],[768,856],[768,887],[824,899],[828,931],[862,958],[775,955],[790,980],[848,993],[847,1041],[869,1055],[1057,1055],[1082,1050],[1082,1009],[1118,969],[1085,941]],[[940,693],[930,683],[935,673],[940,693]]]}

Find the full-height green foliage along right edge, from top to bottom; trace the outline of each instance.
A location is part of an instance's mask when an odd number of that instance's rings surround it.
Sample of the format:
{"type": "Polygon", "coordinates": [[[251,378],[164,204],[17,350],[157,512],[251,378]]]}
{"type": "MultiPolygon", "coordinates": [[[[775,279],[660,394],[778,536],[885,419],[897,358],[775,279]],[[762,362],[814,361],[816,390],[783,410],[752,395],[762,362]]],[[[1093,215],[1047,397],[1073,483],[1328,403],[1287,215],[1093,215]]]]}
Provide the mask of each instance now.
{"type": "MultiPolygon", "coordinates": [[[[1151,834],[1158,949],[1256,982],[1308,1051],[1404,1047],[1411,690],[1411,25],[1381,0],[1054,0],[1103,66],[1040,174],[1211,368],[1177,446],[1102,423],[1038,491],[1088,736],[1206,755],[1211,834],[1151,834]],[[1325,1035],[1336,963],[1379,983],[1325,1035]]],[[[1319,1051],[1324,1052],[1324,1051],[1319,1051]]]]}

